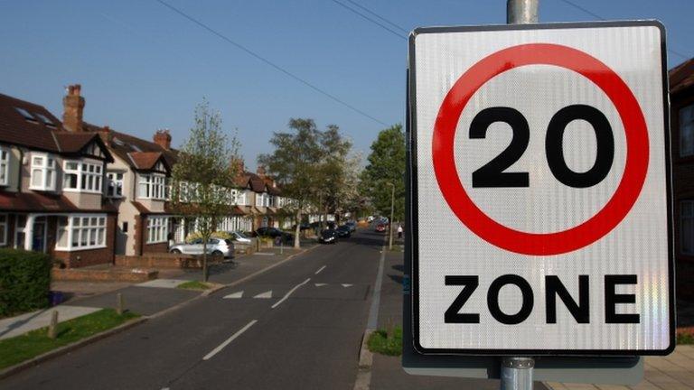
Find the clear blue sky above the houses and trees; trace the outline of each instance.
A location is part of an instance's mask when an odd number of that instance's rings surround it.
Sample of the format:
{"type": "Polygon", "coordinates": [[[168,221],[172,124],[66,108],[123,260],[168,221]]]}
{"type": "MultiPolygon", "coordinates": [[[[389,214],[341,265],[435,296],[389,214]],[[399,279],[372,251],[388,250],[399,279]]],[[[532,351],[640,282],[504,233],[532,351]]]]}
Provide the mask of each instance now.
{"type": "MultiPolygon", "coordinates": [[[[89,123],[145,139],[168,128],[174,146],[207,98],[225,131],[238,130],[251,170],[292,117],[314,118],[322,129],[339,125],[355,151],[367,155],[381,129],[404,123],[408,46],[400,29],[506,21],[505,0],[162,1],[277,67],[156,0],[5,0],[0,93],[61,117],[65,87],[79,83],[89,123]]],[[[541,22],[658,19],[667,29],[669,68],[694,56],[692,14],[692,0],[539,5],[541,22]]]]}

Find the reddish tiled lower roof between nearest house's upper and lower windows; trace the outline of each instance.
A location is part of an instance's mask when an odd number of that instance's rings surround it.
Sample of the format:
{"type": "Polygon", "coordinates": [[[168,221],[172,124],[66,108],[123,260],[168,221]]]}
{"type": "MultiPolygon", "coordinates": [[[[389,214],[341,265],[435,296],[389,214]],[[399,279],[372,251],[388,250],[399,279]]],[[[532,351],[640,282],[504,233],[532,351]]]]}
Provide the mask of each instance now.
{"type": "Polygon", "coordinates": [[[117,209],[112,204],[105,204],[98,209],[78,208],[64,195],[42,192],[7,192],[0,191],[0,209],[12,211],[33,212],[107,212],[115,213],[117,209]]]}

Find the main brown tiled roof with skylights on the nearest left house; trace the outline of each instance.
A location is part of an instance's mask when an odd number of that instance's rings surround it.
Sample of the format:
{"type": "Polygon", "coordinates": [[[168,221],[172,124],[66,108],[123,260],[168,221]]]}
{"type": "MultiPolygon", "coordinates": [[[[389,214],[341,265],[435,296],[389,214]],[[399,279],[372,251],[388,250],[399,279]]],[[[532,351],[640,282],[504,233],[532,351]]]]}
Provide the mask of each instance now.
{"type": "Polygon", "coordinates": [[[91,142],[112,157],[97,134],[63,130],[61,121],[45,107],[0,94],[0,142],[52,153],[80,153],[91,142]]]}

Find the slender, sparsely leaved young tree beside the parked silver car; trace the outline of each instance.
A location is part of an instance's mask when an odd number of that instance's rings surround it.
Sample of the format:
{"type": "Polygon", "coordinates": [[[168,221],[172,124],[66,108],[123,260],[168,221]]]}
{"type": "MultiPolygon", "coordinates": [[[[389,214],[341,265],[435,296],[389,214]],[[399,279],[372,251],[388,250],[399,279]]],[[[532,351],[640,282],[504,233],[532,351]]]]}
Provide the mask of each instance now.
{"type": "Polygon", "coordinates": [[[220,113],[207,100],[195,108],[195,125],[181,147],[172,173],[172,206],[183,218],[196,221],[202,237],[202,278],[207,282],[207,246],[220,218],[230,213],[234,179],[239,175],[240,143],[221,128],[220,113]]]}

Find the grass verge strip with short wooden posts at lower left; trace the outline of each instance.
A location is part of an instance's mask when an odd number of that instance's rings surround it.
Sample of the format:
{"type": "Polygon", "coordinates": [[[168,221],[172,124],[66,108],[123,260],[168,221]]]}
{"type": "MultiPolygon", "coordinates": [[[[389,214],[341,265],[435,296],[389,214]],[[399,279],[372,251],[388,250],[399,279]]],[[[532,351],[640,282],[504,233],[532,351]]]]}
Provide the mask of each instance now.
{"type": "Polygon", "coordinates": [[[80,339],[86,339],[104,330],[139,317],[126,311],[117,315],[113,309],[95,311],[72,320],[58,323],[56,338],[48,338],[48,328],[26,332],[10,339],[0,340],[0,369],[14,366],[24,360],[37,357],[55,348],[64,347],[80,339]]]}

